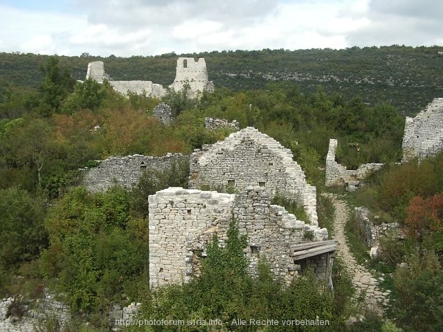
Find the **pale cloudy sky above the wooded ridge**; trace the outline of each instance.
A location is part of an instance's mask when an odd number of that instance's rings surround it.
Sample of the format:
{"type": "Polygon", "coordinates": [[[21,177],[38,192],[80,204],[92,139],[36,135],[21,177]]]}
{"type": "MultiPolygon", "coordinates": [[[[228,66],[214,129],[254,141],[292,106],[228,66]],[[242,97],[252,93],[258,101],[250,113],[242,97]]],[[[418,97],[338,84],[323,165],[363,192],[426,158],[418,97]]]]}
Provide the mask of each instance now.
{"type": "Polygon", "coordinates": [[[443,46],[439,0],[0,0],[0,52],[443,46]]]}

